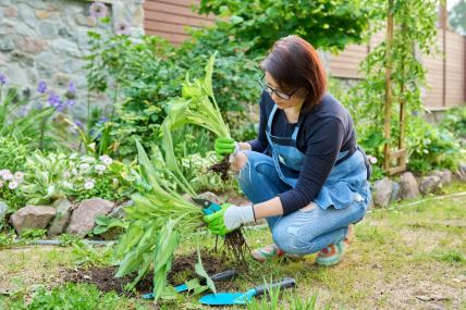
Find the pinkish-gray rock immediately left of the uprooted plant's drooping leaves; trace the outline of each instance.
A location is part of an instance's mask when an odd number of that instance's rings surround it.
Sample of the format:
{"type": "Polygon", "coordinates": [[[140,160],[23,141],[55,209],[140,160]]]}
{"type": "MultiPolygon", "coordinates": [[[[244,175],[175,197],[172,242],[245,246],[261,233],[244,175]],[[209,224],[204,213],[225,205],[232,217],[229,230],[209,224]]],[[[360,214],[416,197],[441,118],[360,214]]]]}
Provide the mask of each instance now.
{"type": "Polygon", "coordinates": [[[66,233],[84,237],[94,230],[97,215],[108,214],[114,203],[101,198],[81,201],[73,211],[66,233]]]}

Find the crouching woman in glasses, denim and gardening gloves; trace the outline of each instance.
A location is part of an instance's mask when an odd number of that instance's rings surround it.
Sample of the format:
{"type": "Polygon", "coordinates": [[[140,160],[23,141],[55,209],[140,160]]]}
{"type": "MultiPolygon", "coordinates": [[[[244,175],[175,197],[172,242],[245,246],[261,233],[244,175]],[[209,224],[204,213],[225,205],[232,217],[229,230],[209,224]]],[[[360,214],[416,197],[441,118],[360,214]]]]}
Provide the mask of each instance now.
{"type": "Polygon", "coordinates": [[[216,140],[219,156],[234,153],[231,169],[253,204],[223,204],[205,221],[224,235],[266,219],[274,244],[255,249],[256,260],[318,252],[316,263],[336,264],[370,200],[370,165],[353,120],[327,92],[322,64],[304,39],[278,40],[261,69],[258,137],[216,140]]]}

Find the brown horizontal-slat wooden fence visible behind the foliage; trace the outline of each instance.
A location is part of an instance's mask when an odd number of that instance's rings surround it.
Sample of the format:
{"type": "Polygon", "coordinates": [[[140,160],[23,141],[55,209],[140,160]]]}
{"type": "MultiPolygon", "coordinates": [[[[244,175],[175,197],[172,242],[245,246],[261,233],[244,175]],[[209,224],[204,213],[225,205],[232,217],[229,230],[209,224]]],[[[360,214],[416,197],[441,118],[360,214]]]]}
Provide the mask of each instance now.
{"type": "MultiPolygon", "coordinates": [[[[199,0],[146,0],[144,4],[146,34],[180,44],[188,38],[186,26],[211,25],[213,16],[199,16],[193,12],[191,5],[196,3],[199,3],[199,0]]],[[[338,55],[331,54],[328,58],[330,74],[342,78],[361,78],[363,75],[358,72],[360,61],[383,39],[383,36],[384,33],[377,34],[368,45],[352,45],[338,55]]],[[[466,37],[439,28],[437,41],[438,53],[420,57],[428,70],[424,104],[430,110],[444,110],[465,104],[466,37]]]]}

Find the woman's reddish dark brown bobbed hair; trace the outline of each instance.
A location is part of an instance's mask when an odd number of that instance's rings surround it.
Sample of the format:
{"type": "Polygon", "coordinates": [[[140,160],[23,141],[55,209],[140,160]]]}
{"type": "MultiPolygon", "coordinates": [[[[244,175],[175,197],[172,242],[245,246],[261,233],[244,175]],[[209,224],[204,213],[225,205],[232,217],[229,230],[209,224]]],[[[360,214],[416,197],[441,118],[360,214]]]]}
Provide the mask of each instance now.
{"type": "MultiPolygon", "coordinates": [[[[326,71],[314,47],[298,36],[278,40],[260,67],[270,73],[282,90],[305,88],[302,111],[307,113],[327,89],[326,71]]],[[[298,92],[299,94],[299,92],[298,92]]]]}

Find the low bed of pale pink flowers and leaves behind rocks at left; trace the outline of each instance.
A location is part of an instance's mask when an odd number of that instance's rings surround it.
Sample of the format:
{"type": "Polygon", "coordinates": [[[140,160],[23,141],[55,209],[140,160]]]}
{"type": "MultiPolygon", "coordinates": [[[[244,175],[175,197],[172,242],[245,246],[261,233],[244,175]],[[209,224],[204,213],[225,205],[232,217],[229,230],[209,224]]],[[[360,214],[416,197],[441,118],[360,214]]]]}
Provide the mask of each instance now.
{"type": "Polygon", "coordinates": [[[12,209],[25,203],[51,203],[62,197],[119,200],[137,188],[137,179],[133,165],[108,156],[96,159],[77,153],[36,151],[26,158],[24,171],[0,170],[0,194],[12,209]]]}

